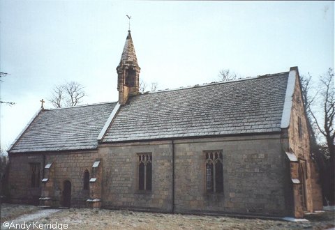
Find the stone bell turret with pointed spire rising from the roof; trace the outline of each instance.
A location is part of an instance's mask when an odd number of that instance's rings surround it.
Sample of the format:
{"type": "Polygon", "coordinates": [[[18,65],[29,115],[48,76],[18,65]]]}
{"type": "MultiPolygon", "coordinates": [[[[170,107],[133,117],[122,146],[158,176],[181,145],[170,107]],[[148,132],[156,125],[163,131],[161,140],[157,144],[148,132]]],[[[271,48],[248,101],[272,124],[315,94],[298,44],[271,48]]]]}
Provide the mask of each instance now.
{"type": "Polygon", "coordinates": [[[119,103],[121,105],[126,104],[129,96],[137,95],[139,92],[140,70],[131,31],[128,30],[124,51],[121,54],[119,66],[117,66],[117,90],[119,91],[119,103]]]}

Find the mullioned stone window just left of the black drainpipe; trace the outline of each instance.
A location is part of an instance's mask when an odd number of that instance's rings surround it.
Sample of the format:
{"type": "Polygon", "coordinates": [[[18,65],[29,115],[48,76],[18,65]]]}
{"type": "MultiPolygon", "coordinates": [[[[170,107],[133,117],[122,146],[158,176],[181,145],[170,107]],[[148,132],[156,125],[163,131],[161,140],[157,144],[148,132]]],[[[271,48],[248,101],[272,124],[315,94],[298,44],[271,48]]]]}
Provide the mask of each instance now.
{"type": "Polygon", "coordinates": [[[152,184],[152,155],[140,153],[138,159],[138,190],[151,191],[152,184]]]}

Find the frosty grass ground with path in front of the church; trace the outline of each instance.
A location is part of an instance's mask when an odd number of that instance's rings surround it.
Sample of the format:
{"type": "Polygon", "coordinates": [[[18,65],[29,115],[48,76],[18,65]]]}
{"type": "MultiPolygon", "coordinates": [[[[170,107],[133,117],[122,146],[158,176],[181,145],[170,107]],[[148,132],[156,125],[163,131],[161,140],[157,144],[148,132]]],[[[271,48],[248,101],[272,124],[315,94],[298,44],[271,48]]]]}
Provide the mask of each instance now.
{"type": "MultiPolygon", "coordinates": [[[[308,222],[285,222],[282,220],[260,220],[208,215],[180,215],[163,213],[141,213],[130,210],[105,210],[69,208],[46,213],[36,206],[2,204],[1,229],[4,222],[14,224],[63,224],[58,229],[332,229],[334,212],[307,215],[308,222]],[[29,214],[30,213],[30,214],[29,214]],[[46,214],[45,214],[46,213],[46,214]],[[25,214],[25,215],[24,215],[25,214]],[[34,215],[34,220],[31,217],[34,215]],[[16,218],[16,219],[15,219],[16,218]]],[[[15,228],[8,228],[15,229],[15,228]]],[[[27,229],[27,227],[26,227],[27,229]]],[[[43,228],[35,228],[43,229],[43,228]]],[[[50,228],[52,229],[52,228],[50,228]]]]}

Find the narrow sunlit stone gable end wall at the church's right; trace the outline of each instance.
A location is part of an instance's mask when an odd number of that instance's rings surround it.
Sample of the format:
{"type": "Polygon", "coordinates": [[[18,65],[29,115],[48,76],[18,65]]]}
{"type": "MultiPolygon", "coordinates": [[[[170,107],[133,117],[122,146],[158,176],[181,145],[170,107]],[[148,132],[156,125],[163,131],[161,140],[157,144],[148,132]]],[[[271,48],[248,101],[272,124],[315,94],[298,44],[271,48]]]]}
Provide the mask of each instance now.
{"type": "Polygon", "coordinates": [[[299,72],[295,72],[295,88],[292,95],[290,125],[287,129],[283,130],[287,133],[287,135],[285,135],[286,138],[283,139],[283,147],[285,148],[285,151],[292,151],[295,153],[298,159],[298,162],[290,163],[291,178],[298,178],[300,180],[299,185],[292,185],[294,197],[294,204],[292,205],[294,206],[294,215],[296,217],[303,217],[304,212],[322,210],[322,194],[320,185],[318,184],[318,175],[315,169],[315,163],[310,157],[311,150],[308,136],[307,118],[301,95],[299,72]],[[301,125],[299,125],[299,121],[301,125]],[[301,130],[301,135],[299,135],[299,129],[301,130]],[[303,176],[299,173],[299,165],[301,167],[302,164],[306,164],[303,176]]]}

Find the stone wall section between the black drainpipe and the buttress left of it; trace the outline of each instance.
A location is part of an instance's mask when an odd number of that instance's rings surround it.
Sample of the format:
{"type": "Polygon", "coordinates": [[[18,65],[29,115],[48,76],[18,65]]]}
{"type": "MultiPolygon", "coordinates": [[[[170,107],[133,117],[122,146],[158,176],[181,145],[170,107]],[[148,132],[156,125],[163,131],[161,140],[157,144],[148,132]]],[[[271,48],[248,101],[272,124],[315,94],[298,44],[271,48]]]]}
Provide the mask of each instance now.
{"type": "Polygon", "coordinates": [[[110,144],[99,147],[103,164],[103,207],[170,212],[172,208],[171,141],[110,144]],[[152,155],[152,190],[138,190],[139,153],[152,155]]]}

